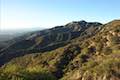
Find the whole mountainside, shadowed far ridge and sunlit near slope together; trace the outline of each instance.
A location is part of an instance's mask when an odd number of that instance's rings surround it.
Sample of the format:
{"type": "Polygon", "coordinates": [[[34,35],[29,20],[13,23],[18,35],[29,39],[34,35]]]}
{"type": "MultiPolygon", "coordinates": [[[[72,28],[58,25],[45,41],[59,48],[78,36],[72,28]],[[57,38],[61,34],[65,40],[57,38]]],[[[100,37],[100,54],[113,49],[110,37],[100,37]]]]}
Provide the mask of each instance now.
{"type": "Polygon", "coordinates": [[[120,20],[71,22],[21,37],[1,50],[1,80],[120,80],[120,20]]]}

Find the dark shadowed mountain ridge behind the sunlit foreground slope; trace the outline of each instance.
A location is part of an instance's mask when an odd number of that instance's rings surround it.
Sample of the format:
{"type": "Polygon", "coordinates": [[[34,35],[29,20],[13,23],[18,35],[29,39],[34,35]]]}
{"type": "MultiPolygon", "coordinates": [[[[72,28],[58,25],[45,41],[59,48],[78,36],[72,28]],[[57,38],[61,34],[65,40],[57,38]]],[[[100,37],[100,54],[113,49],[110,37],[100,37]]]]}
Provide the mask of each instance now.
{"type": "Polygon", "coordinates": [[[51,51],[68,44],[77,37],[90,37],[102,25],[98,22],[78,21],[42,31],[30,32],[11,40],[11,45],[0,51],[0,66],[26,53],[51,51]]]}

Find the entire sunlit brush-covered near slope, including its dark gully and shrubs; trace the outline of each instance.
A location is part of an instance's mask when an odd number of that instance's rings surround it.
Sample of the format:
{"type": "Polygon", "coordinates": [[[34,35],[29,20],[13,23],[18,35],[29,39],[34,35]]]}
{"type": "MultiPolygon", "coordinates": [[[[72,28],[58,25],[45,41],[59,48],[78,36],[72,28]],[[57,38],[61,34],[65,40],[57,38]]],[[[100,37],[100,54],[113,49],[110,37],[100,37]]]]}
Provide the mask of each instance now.
{"type": "Polygon", "coordinates": [[[4,64],[0,79],[120,80],[120,20],[54,50],[26,54],[4,64]]]}

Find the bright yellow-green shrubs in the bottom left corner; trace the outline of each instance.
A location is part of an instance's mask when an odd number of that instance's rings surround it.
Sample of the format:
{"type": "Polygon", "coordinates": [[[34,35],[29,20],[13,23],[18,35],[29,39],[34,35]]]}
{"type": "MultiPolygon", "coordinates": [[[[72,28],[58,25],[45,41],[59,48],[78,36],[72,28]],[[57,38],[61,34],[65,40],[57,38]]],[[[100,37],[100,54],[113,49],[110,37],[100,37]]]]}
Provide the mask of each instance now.
{"type": "Polygon", "coordinates": [[[56,80],[56,77],[41,66],[22,69],[9,64],[0,71],[0,80],[56,80]]]}

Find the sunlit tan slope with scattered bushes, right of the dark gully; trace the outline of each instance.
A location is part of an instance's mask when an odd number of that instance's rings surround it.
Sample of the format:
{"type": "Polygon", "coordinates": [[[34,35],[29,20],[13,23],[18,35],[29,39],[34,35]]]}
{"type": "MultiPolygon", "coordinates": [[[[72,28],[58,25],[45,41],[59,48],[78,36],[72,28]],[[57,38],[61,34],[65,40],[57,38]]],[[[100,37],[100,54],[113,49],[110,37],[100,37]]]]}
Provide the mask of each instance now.
{"type": "Polygon", "coordinates": [[[80,47],[81,53],[69,63],[63,80],[120,80],[120,20],[103,25],[80,47]]]}

